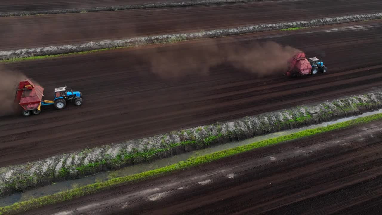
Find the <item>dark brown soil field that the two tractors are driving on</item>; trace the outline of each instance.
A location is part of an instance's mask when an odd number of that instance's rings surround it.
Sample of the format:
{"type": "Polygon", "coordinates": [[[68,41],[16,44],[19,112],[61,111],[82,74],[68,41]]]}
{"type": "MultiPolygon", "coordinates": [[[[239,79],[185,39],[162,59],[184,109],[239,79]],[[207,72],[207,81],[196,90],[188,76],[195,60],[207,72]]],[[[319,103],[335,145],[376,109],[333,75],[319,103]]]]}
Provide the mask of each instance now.
{"type": "MultiPolygon", "coordinates": [[[[381,26],[382,21],[372,21],[357,28],[325,26],[320,28],[324,31],[217,39],[233,47],[276,41],[308,56],[324,56],[329,73],[301,79],[279,73],[259,78],[230,65],[212,67],[207,75],[183,74],[177,68],[189,64],[182,61],[170,65],[185,76],[163,78],[145,61],[145,50],[154,46],[5,65],[44,86],[44,99],[52,98],[55,87],[68,85],[84,93],[84,105],[0,117],[0,166],[373,90],[382,85],[381,26]]],[[[205,45],[190,41],[157,50],[198,53],[205,45]]]]}

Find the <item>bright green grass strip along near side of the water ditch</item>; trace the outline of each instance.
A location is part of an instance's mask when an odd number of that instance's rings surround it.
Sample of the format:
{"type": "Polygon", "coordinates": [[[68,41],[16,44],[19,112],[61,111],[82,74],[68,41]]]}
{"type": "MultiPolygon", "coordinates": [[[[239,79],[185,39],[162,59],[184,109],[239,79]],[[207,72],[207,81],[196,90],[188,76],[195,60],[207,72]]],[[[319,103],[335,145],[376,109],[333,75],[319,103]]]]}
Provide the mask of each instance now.
{"type": "Polygon", "coordinates": [[[97,182],[94,184],[89,184],[87,186],[78,187],[76,189],[71,189],[68,191],[59,192],[53,195],[47,195],[44,197],[39,197],[37,199],[30,199],[24,202],[18,202],[10,206],[5,206],[0,208],[0,215],[5,214],[15,214],[20,212],[26,212],[28,210],[43,207],[45,205],[53,205],[65,200],[70,200],[76,197],[81,197],[84,195],[94,194],[96,192],[108,189],[112,186],[118,186],[125,182],[134,181],[137,179],[145,179],[152,176],[160,176],[161,174],[171,173],[176,170],[186,169],[193,166],[198,166],[204,163],[209,163],[211,161],[219,160],[228,156],[236,155],[238,153],[251,151],[255,148],[265,147],[269,145],[274,145],[277,143],[285,142],[288,140],[296,140],[302,137],[309,137],[316,134],[321,134],[323,132],[329,132],[332,130],[344,129],[348,127],[353,127],[354,125],[365,124],[368,122],[376,121],[382,119],[382,114],[374,114],[366,117],[359,117],[358,119],[353,119],[346,122],[340,122],[333,125],[328,125],[327,127],[321,127],[316,129],[307,129],[295,134],[285,135],[282,137],[271,138],[268,140],[263,140],[248,145],[231,148],[223,151],[217,151],[209,155],[199,156],[196,158],[189,158],[186,161],[180,161],[179,163],[165,166],[162,168],[146,171],[143,173],[133,174],[129,176],[113,178],[104,182],[97,182]]]}

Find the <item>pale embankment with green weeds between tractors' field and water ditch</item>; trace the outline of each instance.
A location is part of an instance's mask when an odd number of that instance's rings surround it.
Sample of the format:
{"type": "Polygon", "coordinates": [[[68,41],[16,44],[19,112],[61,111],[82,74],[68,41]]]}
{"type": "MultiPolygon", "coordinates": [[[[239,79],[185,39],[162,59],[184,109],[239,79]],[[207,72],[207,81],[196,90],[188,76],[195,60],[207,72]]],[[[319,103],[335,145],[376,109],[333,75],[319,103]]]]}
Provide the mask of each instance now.
{"type": "Polygon", "coordinates": [[[129,140],[81,152],[57,155],[24,165],[8,166],[0,174],[0,193],[13,194],[65,179],[81,178],[156,159],[200,150],[209,145],[353,116],[382,107],[382,91],[342,98],[314,106],[249,116],[231,122],[195,127],[155,137],[129,140]]]}

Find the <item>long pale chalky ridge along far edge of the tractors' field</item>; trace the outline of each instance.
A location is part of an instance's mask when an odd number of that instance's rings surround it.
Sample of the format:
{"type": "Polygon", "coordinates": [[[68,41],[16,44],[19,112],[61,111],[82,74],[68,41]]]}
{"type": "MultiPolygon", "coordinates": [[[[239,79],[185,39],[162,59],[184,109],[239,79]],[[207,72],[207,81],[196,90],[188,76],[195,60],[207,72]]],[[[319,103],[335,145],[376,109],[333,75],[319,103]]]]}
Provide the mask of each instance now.
{"type": "Polygon", "coordinates": [[[164,34],[155,36],[134,37],[118,40],[103,40],[98,42],[87,42],[83,44],[67,44],[63,46],[37,47],[30,49],[18,49],[9,51],[0,51],[0,59],[13,59],[20,57],[32,57],[43,55],[66,54],[71,52],[82,52],[97,49],[141,46],[146,44],[173,42],[181,40],[212,38],[220,36],[230,36],[246,33],[256,33],[261,31],[272,31],[296,27],[312,27],[328,24],[350,23],[356,21],[375,20],[382,18],[382,13],[372,13],[364,15],[338,16],[334,18],[316,19],[310,21],[295,21],[275,24],[258,24],[237,28],[214,29],[209,31],[201,31],[195,33],[180,33],[180,34],[164,34]]]}

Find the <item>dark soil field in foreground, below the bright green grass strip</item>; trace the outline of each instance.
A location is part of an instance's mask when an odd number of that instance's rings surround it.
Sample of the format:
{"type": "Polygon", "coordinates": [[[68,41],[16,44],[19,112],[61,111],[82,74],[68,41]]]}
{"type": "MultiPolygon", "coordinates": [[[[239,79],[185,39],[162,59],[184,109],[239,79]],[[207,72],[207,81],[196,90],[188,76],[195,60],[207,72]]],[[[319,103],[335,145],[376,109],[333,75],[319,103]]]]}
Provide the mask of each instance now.
{"type": "Polygon", "coordinates": [[[261,148],[26,214],[380,214],[381,126],[261,148]]]}

